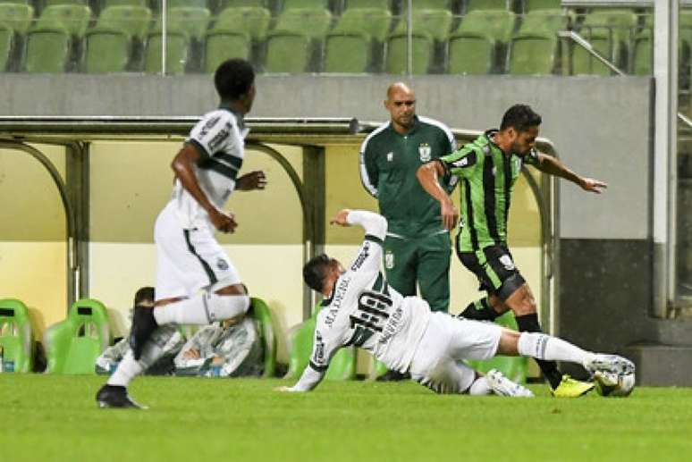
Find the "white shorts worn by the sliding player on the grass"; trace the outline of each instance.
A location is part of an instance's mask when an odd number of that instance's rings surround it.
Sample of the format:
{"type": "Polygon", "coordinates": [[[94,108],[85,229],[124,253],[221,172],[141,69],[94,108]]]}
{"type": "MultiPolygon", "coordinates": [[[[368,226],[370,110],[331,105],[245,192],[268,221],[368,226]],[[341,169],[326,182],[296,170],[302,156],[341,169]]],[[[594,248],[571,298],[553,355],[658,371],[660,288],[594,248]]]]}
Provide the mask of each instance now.
{"type": "Polygon", "coordinates": [[[411,361],[411,378],[438,393],[463,393],[476,372],[461,361],[495,356],[502,327],[433,313],[411,361]]]}

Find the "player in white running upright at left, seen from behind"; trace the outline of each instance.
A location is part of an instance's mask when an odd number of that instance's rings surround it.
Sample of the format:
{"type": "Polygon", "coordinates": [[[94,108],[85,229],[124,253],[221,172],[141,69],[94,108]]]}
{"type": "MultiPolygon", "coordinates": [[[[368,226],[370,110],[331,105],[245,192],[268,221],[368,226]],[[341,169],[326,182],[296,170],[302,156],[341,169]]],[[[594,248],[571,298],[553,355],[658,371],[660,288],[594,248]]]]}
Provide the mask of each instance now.
{"type": "Polygon", "coordinates": [[[263,172],[238,176],[255,72],[247,61],[231,59],[219,65],[214,83],[221,104],[194,126],[173,159],[173,196],[156,218],[156,307],[135,307],[131,351],[97,392],[99,407],[140,407],[127,386],[162,353],[159,325],[208,324],[249,309],[248,292],[214,232],[237,226],[223,210],[234,189],[266,186],[263,172]]]}

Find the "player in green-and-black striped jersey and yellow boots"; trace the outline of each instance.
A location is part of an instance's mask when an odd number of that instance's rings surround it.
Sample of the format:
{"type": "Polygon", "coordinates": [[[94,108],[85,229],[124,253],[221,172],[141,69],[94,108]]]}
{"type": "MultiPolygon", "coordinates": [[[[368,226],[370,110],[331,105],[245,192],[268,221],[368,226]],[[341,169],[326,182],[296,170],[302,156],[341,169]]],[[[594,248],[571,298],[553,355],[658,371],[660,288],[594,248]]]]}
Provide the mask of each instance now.
{"type": "MultiPolygon", "coordinates": [[[[558,159],[534,149],[541,116],[527,105],[513,105],[504,113],[500,130],[487,130],[458,151],[421,166],[418,181],[440,203],[443,225],[451,230],[459,218],[439,178],[461,180],[462,227],[457,236],[461,263],[477,275],[488,295],[466,307],[460,316],[494,320],[508,310],[516,315],[519,331],[540,332],[536,300],[514,265],[507,247],[511,190],[522,164],[572,181],[584,190],[600,193],[602,181],[571,172],[558,159]]],[[[536,360],[556,397],[576,398],[594,388],[563,375],[553,361],[536,360]]]]}

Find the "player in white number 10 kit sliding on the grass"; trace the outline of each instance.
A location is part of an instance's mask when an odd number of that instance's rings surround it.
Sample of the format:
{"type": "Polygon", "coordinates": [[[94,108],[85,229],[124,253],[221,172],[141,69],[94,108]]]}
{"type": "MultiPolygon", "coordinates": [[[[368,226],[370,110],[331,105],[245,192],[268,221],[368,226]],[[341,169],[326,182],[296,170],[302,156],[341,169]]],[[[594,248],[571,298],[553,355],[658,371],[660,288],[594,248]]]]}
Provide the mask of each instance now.
{"type": "Polygon", "coordinates": [[[303,268],[308,286],[324,294],[325,300],[317,315],[308,366],[295,385],[279,391],[313,390],[333,354],[350,345],[366,349],[391,370],[409,372],[413,380],[438,393],[533,396],[499,371],[481,375],[461,362],[495,355],[570,361],[591,373],[634,371],[634,364],[624,357],[591,353],[542,332],[515,332],[494,323],[432,313],[424,299],[402,297],[384,279],[380,262],[387,222],[383,216],[342,210],[332,223],[362,226],[365,240],[348,268],[325,255],[303,268]]]}

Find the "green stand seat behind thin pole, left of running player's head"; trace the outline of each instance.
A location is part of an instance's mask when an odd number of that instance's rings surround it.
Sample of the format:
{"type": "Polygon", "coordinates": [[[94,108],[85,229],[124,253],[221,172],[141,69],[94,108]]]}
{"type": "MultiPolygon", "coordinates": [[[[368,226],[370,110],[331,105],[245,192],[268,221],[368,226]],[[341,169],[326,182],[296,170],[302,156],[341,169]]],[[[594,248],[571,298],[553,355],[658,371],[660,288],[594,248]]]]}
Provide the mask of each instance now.
{"type": "MultiPolygon", "coordinates": [[[[163,55],[163,36],[160,31],[149,34],[147,51],[144,58],[144,71],[147,73],[161,72],[161,57],[163,55]]],[[[181,30],[169,29],[166,34],[165,73],[166,75],[181,75],[185,73],[190,51],[190,38],[181,30]]]]}

